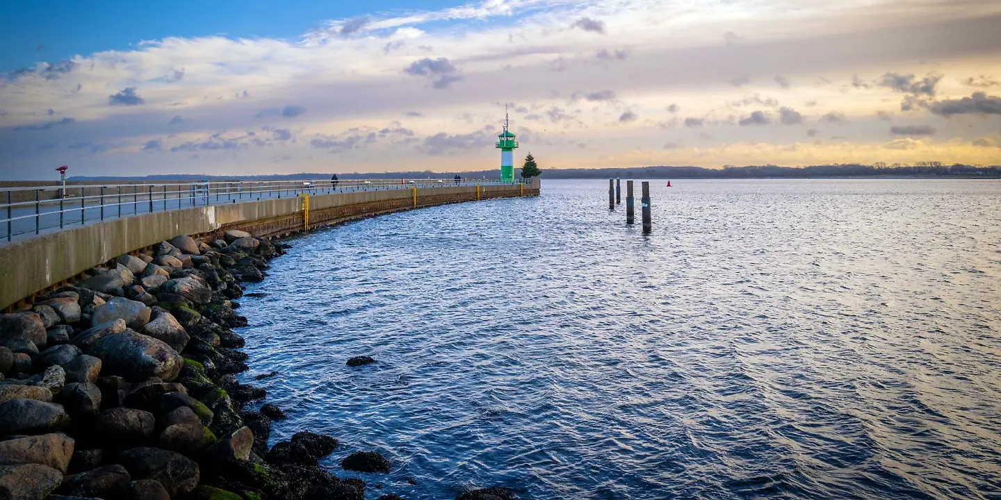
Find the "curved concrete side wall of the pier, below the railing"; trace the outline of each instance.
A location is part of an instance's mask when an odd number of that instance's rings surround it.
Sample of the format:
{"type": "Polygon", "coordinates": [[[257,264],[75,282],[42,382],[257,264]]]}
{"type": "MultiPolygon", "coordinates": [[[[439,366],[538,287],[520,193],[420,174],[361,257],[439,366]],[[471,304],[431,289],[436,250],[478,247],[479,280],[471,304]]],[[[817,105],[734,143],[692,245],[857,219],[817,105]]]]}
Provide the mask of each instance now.
{"type": "MultiPolygon", "coordinates": [[[[388,189],[309,197],[309,227],[360,217],[466,201],[538,196],[532,184],[388,189]]],[[[0,310],[58,286],[115,257],[178,234],[216,235],[230,229],[279,236],[304,229],[300,198],[245,201],[112,219],[0,246],[0,310]]],[[[503,208],[498,208],[503,210],[503,208]]]]}

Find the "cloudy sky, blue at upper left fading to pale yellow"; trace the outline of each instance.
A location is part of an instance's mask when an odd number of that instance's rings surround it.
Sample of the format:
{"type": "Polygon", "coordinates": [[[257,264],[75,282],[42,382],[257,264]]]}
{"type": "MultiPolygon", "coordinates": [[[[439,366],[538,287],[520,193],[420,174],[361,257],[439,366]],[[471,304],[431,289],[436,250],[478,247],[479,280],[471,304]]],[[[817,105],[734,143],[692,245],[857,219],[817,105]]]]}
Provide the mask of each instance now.
{"type": "Polygon", "coordinates": [[[0,5],[0,180],[1001,164],[996,0],[0,5]]]}

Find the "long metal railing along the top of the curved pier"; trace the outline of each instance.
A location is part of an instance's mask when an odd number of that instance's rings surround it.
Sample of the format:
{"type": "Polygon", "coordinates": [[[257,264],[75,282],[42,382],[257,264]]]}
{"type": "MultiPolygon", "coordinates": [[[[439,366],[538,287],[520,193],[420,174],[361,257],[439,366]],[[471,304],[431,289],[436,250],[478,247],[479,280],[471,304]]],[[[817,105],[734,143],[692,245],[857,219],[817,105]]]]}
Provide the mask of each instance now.
{"type": "Polygon", "coordinates": [[[185,207],[309,195],[491,184],[532,183],[531,179],[340,179],[88,184],[0,188],[0,242],[17,236],[86,225],[118,217],[185,207]]]}

